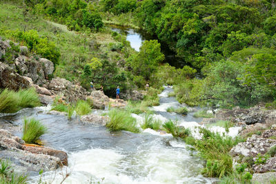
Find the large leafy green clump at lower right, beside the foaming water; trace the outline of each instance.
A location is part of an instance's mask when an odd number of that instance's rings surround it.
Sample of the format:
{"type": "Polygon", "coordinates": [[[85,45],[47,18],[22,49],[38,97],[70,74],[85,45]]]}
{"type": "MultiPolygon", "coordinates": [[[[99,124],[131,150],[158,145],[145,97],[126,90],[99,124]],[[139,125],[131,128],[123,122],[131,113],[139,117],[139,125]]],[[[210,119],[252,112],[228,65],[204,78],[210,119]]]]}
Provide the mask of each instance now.
{"type": "Polygon", "coordinates": [[[199,133],[202,139],[193,139],[187,137],[186,143],[190,143],[199,152],[199,156],[206,160],[206,166],[202,171],[208,177],[223,177],[233,173],[233,159],[229,152],[241,142],[239,137],[233,139],[230,136],[221,136],[219,133],[211,132],[205,128],[200,127],[199,133]],[[189,139],[188,139],[189,138],[189,139]]]}

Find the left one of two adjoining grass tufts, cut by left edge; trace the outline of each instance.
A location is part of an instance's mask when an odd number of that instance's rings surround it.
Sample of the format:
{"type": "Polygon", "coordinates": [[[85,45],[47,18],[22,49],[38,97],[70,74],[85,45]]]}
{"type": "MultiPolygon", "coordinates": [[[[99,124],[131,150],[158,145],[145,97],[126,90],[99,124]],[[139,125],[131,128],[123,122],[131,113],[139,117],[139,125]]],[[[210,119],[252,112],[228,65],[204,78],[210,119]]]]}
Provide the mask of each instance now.
{"type": "Polygon", "coordinates": [[[20,110],[18,106],[18,95],[8,89],[3,90],[0,94],[0,112],[13,113],[20,110]]]}

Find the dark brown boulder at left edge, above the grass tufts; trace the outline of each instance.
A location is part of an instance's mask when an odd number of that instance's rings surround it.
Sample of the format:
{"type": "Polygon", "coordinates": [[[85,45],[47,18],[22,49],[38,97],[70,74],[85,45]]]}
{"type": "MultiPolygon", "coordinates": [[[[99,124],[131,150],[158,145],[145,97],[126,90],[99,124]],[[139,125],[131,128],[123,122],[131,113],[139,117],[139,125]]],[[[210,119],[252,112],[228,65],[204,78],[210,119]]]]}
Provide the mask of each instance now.
{"type": "Polygon", "coordinates": [[[19,90],[29,86],[30,82],[27,79],[15,73],[6,63],[0,62],[0,88],[19,90]]]}

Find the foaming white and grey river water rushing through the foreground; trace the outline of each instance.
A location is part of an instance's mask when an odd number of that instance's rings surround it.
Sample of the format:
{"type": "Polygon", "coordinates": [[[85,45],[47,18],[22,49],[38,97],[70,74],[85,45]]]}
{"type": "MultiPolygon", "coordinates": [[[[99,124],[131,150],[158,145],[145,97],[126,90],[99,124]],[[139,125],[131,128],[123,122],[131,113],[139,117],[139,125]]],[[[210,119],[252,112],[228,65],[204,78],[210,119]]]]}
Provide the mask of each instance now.
{"type": "MultiPolygon", "coordinates": [[[[171,91],[166,87],[159,95],[160,105],[152,107],[154,117],[162,121],[177,119],[188,127],[199,126],[201,119],[195,119],[193,112],[187,116],[166,112],[168,107],[181,106],[174,97],[168,97],[171,91]]],[[[170,134],[149,129],[140,134],[110,132],[106,127],[80,123],[77,118],[68,121],[66,116],[47,114],[48,110],[26,109],[7,120],[20,125],[23,116],[34,116],[48,127],[48,133],[41,137],[46,146],[68,153],[68,167],[43,173],[43,181],[60,183],[67,172],[70,176],[63,183],[212,183],[212,179],[200,174],[203,161],[187,149],[184,141],[170,134]]],[[[133,116],[141,123],[143,115],[133,116]]],[[[230,132],[236,134],[235,129],[230,132]]],[[[30,172],[30,183],[38,183],[40,177],[37,172],[30,172]]]]}

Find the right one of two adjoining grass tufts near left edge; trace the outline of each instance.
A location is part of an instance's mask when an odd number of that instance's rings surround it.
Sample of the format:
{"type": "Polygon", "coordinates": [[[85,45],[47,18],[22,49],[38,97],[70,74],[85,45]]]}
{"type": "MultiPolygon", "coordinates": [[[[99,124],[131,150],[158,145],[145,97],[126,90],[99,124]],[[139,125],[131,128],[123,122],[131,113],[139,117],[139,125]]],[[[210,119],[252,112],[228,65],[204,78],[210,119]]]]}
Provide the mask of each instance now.
{"type": "Polygon", "coordinates": [[[20,108],[34,108],[41,105],[39,96],[34,88],[19,90],[17,94],[19,96],[18,105],[20,108]]]}

